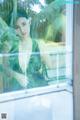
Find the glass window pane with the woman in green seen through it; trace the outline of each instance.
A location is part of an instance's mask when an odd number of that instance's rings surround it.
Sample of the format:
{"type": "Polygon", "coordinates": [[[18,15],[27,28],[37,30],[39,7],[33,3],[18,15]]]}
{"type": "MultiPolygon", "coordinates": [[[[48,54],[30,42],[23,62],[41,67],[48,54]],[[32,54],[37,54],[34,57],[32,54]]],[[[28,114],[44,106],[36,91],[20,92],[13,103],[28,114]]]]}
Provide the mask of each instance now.
{"type": "Polygon", "coordinates": [[[66,82],[65,8],[58,0],[0,3],[0,93],[66,82]]]}

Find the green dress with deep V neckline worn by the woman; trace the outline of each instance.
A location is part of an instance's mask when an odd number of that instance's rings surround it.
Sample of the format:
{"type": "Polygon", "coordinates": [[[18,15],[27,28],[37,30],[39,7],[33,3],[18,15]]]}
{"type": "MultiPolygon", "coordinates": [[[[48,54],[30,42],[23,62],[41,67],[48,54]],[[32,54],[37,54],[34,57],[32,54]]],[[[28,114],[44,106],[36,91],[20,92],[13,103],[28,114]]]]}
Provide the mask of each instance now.
{"type": "MultiPolygon", "coordinates": [[[[10,69],[24,74],[19,66],[18,60],[18,46],[13,47],[10,51],[11,56],[9,57],[8,66],[10,69]]],[[[35,88],[48,85],[47,80],[45,80],[45,64],[42,63],[40,57],[40,50],[38,44],[35,40],[32,42],[32,54],[30,56],[28,68],[26,70],[28,77],[28,85],[26,88],[35,88]]],[[[23,87],[18,83],[18,81],[13,77],[12,80],[7,81],[9,87],[5,91],[21,90],[23,87]]]]}

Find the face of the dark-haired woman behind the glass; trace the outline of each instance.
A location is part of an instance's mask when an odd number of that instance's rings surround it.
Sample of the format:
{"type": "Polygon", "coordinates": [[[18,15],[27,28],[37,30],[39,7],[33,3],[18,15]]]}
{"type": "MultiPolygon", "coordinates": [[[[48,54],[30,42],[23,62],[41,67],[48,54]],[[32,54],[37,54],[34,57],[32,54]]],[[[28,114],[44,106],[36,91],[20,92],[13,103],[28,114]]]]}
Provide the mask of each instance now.
{"type": "Polygon", "coordinates": [[[30,36],[30,21],[25,17],[19,17],[16,21],[16,33],[22,39],[30,36]]]}

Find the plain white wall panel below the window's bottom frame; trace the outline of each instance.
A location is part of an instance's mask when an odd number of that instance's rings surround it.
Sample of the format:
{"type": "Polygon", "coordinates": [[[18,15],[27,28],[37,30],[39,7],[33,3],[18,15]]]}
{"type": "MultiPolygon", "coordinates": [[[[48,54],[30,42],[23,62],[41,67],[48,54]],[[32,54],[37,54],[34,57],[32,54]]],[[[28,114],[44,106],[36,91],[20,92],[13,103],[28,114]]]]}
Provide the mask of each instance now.
{"type": "Polygon", "coordinates": [[[6,120],[73,120],[72,93],[51,92],[3,102],[1,113],[7,114],[6,120]]]}

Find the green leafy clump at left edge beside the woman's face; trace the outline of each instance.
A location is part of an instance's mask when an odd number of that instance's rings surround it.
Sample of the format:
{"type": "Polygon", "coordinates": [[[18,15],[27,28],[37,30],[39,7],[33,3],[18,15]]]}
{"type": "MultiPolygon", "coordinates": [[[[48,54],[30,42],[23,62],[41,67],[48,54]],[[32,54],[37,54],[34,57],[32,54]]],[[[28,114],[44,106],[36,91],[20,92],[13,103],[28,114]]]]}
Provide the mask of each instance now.
{"type": "Polygon", "coordinates": [[[7,24],[0,19],[0,52],[4,49],[18,44],[18,37],[15,34],[14,29],[7,26],[7,24]]]}

